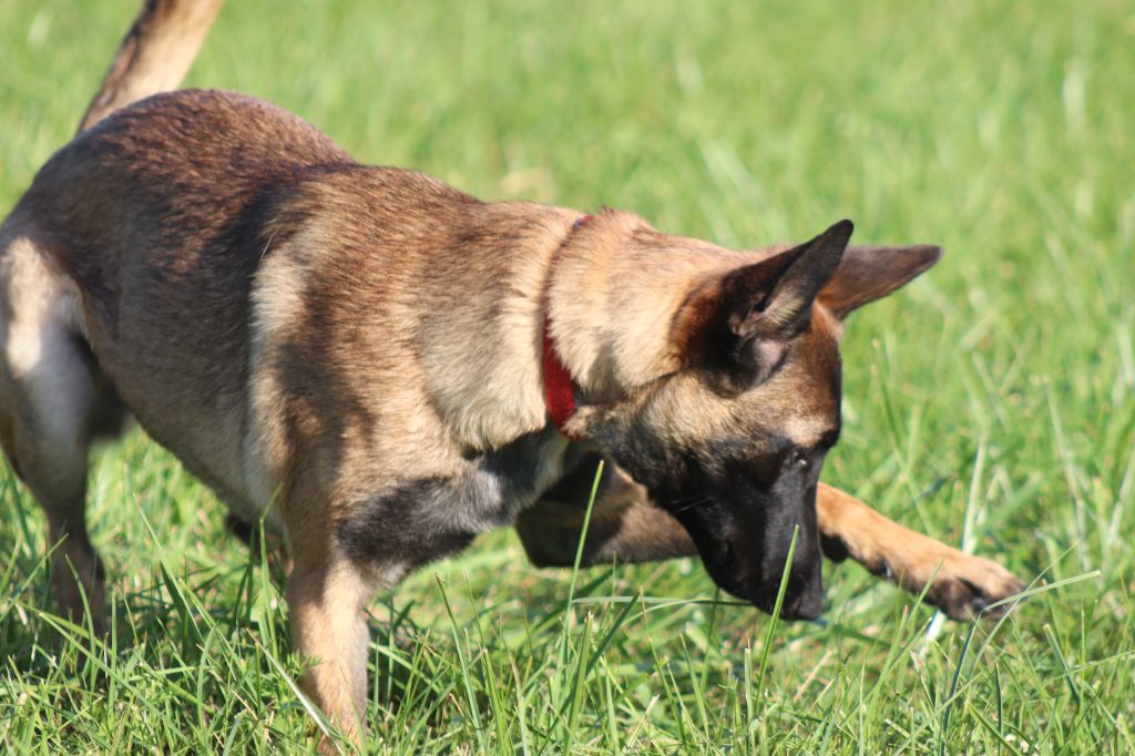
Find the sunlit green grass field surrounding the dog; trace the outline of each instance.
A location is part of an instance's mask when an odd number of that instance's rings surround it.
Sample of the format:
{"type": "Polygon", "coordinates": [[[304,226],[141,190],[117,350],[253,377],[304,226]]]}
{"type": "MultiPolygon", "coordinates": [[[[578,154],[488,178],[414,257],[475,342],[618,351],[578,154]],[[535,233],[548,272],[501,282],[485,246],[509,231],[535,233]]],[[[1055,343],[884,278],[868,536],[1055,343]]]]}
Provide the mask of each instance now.
{"type": "MultiPolygon", "coordinates": [[[[5,212],[134,10],[0,2],[5,212]]],[[[697,562],[577,577],[493,534],[375,603],[376,751],[1135,751],[1129,3],[234,0],[190,83],[486,199],[732,246],[842,217],[943,244],[854,317],[824,479],[1051,587],[943,623],[827,565],[824,619],[785,624],[697,562]]],[[[115,636],[87,654],[0,472],[0,748],[312,748],[279,588],[212,494],[135,431],[95,455],[91,497],[115,636]]]]}

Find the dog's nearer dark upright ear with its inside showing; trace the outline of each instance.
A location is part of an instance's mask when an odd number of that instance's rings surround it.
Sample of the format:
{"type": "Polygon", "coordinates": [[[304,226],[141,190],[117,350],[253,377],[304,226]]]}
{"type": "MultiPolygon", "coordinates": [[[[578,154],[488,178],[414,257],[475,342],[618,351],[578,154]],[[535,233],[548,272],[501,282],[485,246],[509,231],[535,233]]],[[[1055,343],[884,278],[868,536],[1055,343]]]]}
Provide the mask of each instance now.
{"type": "Polygon", "coordinates": [[[676,322],[688,364],[724,378],[728,390],[762,383],[812,317],[812,304],[839,268],[854,226],[841,220],[816,238],[737,268],[696,293],[676,322]]]}

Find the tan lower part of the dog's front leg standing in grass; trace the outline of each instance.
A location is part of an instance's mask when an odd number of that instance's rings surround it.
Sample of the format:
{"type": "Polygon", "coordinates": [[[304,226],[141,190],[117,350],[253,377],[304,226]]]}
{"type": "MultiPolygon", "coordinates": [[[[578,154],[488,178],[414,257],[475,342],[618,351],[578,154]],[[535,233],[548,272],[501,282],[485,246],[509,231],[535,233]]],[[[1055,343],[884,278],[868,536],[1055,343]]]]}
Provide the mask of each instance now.
{"type": "MultiPolygon", "coordinates": [[[[359,742],[365,730],[365,576],[345,558],[297,551],[287,581],[292,644],[305,664],[304,692],[335,726],[359,742]]],[[[325,740],[321,750],[329,751],[325,740]]]]}

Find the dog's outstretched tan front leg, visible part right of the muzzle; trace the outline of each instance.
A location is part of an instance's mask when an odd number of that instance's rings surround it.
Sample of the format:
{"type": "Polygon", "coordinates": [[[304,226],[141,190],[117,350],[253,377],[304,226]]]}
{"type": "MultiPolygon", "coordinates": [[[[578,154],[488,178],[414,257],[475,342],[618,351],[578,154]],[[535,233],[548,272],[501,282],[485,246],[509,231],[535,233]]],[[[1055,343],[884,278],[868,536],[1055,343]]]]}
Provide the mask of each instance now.
{"type": "Polygon", "coordinates": [[[838,488],[819,484],[816,514],[824,556],[850,556],[913,594],[930,582],[926,600],[955,620],[970,620],[1025,588],[997,562],[903,528],[838,488]]]}

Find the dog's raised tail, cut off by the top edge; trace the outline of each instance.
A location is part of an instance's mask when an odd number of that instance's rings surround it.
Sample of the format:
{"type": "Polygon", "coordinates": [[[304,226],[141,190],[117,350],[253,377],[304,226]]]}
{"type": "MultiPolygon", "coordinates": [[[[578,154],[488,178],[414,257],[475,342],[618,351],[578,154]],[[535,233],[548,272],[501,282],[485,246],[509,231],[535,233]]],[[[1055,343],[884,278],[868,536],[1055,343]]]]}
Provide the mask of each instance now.
{"type": "Polygon", "coordinates": [[[222,5],[225,0],[144,0],[78,131],[132,102],[177,89],[222,5]]]}

